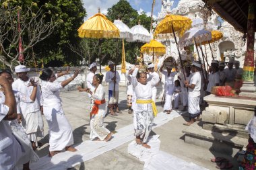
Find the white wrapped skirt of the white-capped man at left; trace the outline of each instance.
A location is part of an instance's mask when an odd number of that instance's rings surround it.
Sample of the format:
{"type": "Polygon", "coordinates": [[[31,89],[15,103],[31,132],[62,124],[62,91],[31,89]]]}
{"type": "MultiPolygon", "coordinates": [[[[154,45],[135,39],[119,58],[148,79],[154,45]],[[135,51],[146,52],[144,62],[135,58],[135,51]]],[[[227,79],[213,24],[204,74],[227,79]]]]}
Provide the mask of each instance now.
{"type": "Polygon", "coordinates": [[[28,114],[22,114],[22,126],[26,129],[26,134],[30,141],[38,146],[38,137],[44,137],[44,122],[40,110],[28,114]]]}

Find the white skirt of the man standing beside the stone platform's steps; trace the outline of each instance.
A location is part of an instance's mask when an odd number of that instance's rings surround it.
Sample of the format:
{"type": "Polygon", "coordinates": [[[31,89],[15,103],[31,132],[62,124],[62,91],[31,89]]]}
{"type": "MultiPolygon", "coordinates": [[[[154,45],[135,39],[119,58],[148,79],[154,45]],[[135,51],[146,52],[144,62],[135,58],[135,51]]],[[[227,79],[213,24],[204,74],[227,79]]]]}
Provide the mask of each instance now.
{"type": "Polygon", "coordinates": [[[198,116],[201,112],[200,106],[199,106],[199,100],[200,96],[197,97],[189,97],[189,115],[191,118],[195,118],[198,116]]]}

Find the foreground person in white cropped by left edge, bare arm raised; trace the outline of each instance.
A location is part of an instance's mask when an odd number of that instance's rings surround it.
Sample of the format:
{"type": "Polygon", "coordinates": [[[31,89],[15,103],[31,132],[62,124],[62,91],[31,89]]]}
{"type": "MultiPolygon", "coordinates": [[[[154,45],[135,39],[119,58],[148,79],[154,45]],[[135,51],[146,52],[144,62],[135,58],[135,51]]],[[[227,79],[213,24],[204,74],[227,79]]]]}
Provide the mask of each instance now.
{"type": "Polygon", "coordinates": [[[10,83],[0,76],[0,85],[4,87],[5,103],[0,104],[0,169],[12,170],[22,157],[22,147],[11,133],[8,120],[15,120],[16,102],[10,83]]]}

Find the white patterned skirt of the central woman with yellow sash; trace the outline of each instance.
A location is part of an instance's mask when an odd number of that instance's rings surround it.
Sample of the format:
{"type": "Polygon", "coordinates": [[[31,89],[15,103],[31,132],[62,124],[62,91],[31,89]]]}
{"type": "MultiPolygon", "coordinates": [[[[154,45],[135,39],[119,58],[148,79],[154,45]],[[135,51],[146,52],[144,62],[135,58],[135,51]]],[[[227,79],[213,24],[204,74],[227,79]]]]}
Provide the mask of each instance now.
{"type": "Polygon", "coordinates": [[[133,125],[135,128],[135,136],[143,138],[143,143],[148,142],[148,137],[152,130],[154,114],[152,104],[136,103],[135,112],[133,110],[133,125]]]}

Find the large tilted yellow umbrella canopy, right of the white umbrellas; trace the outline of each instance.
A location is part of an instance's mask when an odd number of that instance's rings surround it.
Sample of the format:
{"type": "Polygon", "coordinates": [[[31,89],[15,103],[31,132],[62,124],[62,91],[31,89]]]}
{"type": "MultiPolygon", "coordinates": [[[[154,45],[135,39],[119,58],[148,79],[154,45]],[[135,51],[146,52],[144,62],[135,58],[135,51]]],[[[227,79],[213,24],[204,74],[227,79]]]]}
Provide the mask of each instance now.
{"type": "Polygon", "coordinates": [[[166,15],[164,19],[156,26],[154,32],[155,36],[158,34],[172,33],[172,26],[174,32],[178,32],[179,36],[183,36],[184,32],[191,28],[192,21],[189,17],[181,15],[166,15]]]}

